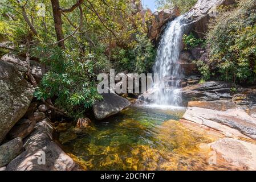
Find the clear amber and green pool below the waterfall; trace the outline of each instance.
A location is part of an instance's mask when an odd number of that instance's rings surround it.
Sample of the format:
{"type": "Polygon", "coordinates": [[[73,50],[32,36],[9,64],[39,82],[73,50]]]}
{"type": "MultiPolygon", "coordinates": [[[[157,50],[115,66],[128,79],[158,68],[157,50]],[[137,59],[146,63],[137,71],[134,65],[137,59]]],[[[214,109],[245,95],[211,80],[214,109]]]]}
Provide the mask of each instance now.
{"type": "Polygon", "coordinates": [[[59,140],[87,170],[209,169],[198,146],[213,141],[175,121],[184,111],[133,106],[83,130],[67,126],[59,140]]]}

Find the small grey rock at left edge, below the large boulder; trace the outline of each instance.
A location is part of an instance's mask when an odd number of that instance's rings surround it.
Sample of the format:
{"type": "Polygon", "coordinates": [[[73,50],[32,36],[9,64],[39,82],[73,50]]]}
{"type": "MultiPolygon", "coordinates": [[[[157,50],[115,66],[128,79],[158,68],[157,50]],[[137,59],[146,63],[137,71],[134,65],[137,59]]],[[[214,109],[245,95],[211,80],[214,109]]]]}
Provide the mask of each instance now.
{"type": "Polygon", "coordinates": [[[0,146],[0,167],[6,166],[22,151],[22,139],[15,138],[0,146]]]}

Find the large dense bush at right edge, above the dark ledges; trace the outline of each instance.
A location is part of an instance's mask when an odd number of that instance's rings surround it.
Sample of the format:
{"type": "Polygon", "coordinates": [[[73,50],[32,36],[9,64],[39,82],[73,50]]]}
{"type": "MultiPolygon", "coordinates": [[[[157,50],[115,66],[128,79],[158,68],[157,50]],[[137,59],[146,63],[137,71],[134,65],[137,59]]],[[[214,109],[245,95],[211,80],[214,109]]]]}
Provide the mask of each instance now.
{"type": "Polygon", "coordinates": [[[256,0],[243,0],[221,13],[207,36],[210,62],[221,80],[255,81],[256,0]]]}

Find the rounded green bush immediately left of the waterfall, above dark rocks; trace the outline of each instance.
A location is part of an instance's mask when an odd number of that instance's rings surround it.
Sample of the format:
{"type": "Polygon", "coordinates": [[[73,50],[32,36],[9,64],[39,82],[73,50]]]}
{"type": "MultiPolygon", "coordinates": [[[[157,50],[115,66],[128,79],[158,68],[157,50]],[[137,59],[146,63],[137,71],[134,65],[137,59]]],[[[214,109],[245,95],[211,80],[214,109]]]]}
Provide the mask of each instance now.
{"type": "Polygon", "coordinates": [[[147,35],[137,34],[129,48],[115,48],[112,61],[118,72],[146,73],[153,67],[155,57],[156,50],[147,35]]]}

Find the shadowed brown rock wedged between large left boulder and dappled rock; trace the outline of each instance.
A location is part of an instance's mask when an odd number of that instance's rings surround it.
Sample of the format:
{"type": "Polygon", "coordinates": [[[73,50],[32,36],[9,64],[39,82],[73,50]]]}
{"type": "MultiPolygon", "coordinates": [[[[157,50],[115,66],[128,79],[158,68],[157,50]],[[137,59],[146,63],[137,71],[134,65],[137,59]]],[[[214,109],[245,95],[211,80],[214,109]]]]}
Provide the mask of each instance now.
{"type": "Polygon", "coordinates": [[[30,121],[29,119],[21,119],[18,121],[14,127],[10,130],[10,138],[25,138],[27,137],[35,128],[35,121],[30,121]]]}

